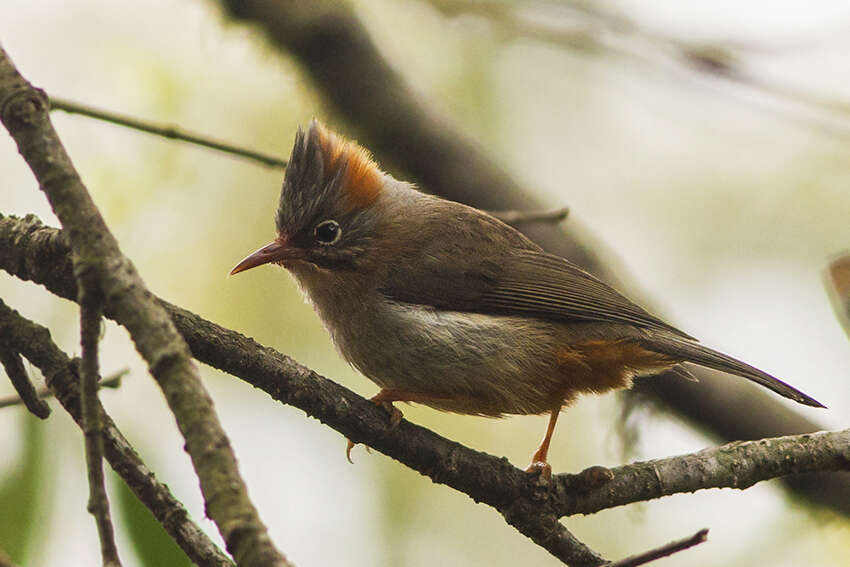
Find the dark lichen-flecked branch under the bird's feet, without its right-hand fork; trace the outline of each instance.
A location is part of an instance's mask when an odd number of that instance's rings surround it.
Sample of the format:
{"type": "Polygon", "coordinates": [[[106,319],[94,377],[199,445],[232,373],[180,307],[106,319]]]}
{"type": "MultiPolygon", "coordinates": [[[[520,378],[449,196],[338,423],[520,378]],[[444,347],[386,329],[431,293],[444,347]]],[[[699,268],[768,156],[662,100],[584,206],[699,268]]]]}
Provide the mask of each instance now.
{"type": "MultiPolygon", "coordinates": [[[[0,215],[0,267],[38,283],[46,284],[42,278],[47,277],[48,289],[76,300],[64,233],[44,227],[32,215],[25,219],[0,215]],[[63,273],[67,277],[60,276],[63,273]]],[[[506,459],[478,453],[407,421],[392,427],[383,409],[291,358],[176,305],[159,303],[198,360],[301,408],[354,442],[370,445],[435,482],[493,506],[509,524],[570,564],[604,562],[557,522],[554,507],[547,503],[548,491],[506,459]],[[571,547],[573,541],[578,545],[571,547]]],[[[114,317],[109,306],[105,315],[114,317]]]]}

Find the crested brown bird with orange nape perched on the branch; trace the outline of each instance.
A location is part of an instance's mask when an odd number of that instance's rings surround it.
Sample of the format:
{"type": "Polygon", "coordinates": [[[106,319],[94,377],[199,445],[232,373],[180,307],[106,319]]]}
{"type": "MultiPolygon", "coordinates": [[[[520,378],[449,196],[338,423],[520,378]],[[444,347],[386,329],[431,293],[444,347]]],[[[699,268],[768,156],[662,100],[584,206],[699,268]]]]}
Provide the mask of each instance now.
{"type": "MultiPolygon", "coordinates": [[[[271,244],[230,272],[274,263],[312,301],[342,355],[381,390],[372,401],[462,414],[550,415],[582,393],[683,362],[823,407],[773,376],[699,344],[485,212],[382,172],[315,120],[299,129],[271,244]]],[[[349,443],[349,451],[351,444],[349,443]]]]}

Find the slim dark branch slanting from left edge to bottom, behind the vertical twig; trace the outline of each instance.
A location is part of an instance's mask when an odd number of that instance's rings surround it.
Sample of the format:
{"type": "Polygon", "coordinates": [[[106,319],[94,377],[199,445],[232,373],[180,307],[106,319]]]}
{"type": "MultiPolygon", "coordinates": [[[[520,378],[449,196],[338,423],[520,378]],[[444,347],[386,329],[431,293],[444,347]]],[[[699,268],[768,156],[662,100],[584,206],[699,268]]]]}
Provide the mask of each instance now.
{"type": "MultiPolygon", "coordinates": [[[[70,268],[66,257],[65,266],[70,268]]],[[[50,331],[27,320],[0,300],[0,336],[37,367],[62,407],[82,428],[79,360],[70,359],[50,338],[50,331]]],[[[111,380],[120,379],[112,378],[111,380]]],[[[106,385],[110,379],[101,383],[106,385]]],[[[100,402],[97,402],[100,405],[100,402]]],[[[102,406],[101,406],[102,411],[102,406]]],[[[112,419],[103,414],[106,460],[139,500],[147,506],[180,549],[197,565],[233,567],[233,562],[189,518],[189,513],[168,487],[156,480],[112,419]]]]}

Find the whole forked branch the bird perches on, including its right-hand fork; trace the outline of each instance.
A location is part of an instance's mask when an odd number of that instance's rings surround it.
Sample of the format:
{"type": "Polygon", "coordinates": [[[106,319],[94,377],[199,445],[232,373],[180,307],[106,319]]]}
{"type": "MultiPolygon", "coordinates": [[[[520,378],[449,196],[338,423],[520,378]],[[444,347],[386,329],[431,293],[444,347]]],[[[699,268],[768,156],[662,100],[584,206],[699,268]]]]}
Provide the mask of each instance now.
{"type": "MultiPolygon", "coordinates": [[[[0,216],[0,269],[66,299],[76,298],[64,236],[33,216],[0,216]]],[[[392,427],[382,408],[343,386],[235,331],[158,301],[199,361],[302,409],[434,482],[496,508],[520,532],[571,564],[598,564],[598,556],[577,547],[556,521],[559,517],[705,488],[744,488],[789,474],[850,469],[850,431],[842,431],[732,443],[615,469],[592,467],[556,475],[550,486],[543,486],[536,475],[504,458],[474,451],[406,420],[392,427]]]]}

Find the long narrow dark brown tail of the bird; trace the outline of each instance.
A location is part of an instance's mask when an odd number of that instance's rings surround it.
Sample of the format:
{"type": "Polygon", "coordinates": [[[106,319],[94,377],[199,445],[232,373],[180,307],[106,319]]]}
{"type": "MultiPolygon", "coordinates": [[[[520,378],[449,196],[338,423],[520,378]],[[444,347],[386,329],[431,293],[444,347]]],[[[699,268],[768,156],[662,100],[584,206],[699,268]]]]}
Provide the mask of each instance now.
{"type": "Polygon", "coordinates": [[[750,366],[746,362],[742,362],[738,359],[732,358],[731,356],[717,352],[716,350],[705,347],[699,343],[682,340],[678,337],[664,337],[656,340],[649,340],[644,343],[644,346],[655,352],[681,359],[682,362],[692,362],[700,366],[741,376],[747,380],[755,382],[756,384],[761,384],[765,388],[773,390],[780,396],[785,396],[795,402],[816,408],[826,407],[811,396],[804,394],[797,388],[790,384],[786,384],[782,380],[771,376],[767,372],[762,372],[758,368],[750,366]]]}

